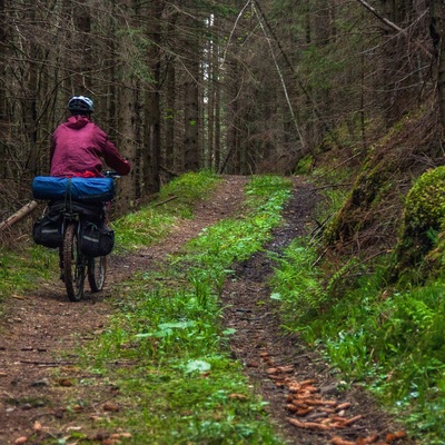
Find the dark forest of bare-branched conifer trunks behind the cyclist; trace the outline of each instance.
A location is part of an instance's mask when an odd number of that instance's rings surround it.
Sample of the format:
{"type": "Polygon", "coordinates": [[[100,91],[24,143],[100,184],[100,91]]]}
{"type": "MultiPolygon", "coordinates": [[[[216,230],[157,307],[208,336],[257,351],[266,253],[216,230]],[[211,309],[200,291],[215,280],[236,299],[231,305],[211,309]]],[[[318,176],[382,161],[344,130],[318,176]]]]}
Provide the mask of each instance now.
{"type": "MultiPolygon", "coordinates": [[[[402,119],[443,156],[445,7],[426,0],[0,0],[0,219],[47,175],[72,95],[135,166],[123,207],[209,168],[362,162],[402,119]]],[[[126,208],[122,208],[126,210],[126,208]]]]}

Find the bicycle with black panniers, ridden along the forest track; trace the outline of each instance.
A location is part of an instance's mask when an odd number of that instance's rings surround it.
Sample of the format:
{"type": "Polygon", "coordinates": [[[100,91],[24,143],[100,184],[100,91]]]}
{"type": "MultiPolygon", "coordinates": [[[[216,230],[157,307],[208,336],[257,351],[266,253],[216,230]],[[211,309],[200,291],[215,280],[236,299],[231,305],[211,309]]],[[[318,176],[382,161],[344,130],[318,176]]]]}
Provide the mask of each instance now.
{"type": "MultiPolygon", "coordinates": [[[[106,171],[105,175],[113,180],[119,178],[116,171],[106,171]]],[[[98,293],[103,288],[108,254],[96,255],[98,251],[96,248],[103,249],[103,246],[99,246],[100,243],[103,244],[103,239],[106,251],[111,251],[113,246],[113,233],[106,226],[108,207],[109,202],[81,202],[71,196],[66,196],[63,199],[48,202],[43,218],[36,222],[36,225],[46,224],[43,228],[40,228],[40,235],[43,234],[40,238],[36,234],[34,225],[34,241],[59,249],[60,277],[71,301],[80,301],[83,298],[86,278],[92,293],[98,293]],[[92,230],[96,230],[92,235],[88,231],[91,226],[92,230]],[[48,237],[51,234],[53,238],[49,240],[48,237]],[[112,239],[100,238],[102,234],[103,236],[112,235],[112,239]],[[42,240],[44,236],[47,239],[42,240]]]]}

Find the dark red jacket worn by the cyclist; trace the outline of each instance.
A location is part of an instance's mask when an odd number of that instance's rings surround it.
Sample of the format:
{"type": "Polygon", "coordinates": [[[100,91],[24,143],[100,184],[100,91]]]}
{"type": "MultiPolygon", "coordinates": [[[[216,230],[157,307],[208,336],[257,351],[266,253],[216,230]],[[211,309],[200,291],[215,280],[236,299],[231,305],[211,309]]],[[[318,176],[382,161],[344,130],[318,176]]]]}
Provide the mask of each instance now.
{"type": "Polygon", "coordinates": [[[127,175],[131,169],[107,134],[88,117],[71,116],[56,128],[50,151],[51,176],[102,176],[100,158],[119,175],[127,175]]]}

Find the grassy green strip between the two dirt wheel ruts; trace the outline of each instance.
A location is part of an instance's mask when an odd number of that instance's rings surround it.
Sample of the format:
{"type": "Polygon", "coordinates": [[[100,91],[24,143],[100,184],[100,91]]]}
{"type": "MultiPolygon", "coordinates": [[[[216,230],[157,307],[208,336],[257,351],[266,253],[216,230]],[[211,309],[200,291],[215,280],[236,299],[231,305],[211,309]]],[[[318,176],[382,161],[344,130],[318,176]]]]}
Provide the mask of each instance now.
{"type": "Polygon", "coordinates": [[[236,332],[224,327],[219,297],[234,261],[260,250],[279,225],[290,188],[287,179],[253,177],[238,217],[125,285],[118,314],[85,352],[86,367],[119,386],[126,406],[103,427],[130,432],[131,444],[281,443],[230,356],[236,332]]]}

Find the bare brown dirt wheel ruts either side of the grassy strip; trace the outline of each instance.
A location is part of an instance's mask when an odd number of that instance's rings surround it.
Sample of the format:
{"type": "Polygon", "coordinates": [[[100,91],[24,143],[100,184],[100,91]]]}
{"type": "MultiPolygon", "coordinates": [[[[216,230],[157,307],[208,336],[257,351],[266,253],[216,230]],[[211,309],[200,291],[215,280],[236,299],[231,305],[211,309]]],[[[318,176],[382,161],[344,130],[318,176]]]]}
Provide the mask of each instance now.
{"type": "MultiPolygon", "coordinates": [[[[39,439],[31,437],[39,429],[41,437],[48,438],[75,428],[89,432],[98,444],[118,443],[93,427],[95,416],[103,409],[112,412],[115,397],[115,388],[100,378],[89,395],[82,394],[82,406],[71,405],[75,421],[72,412],[67,413],[67,400],[76,399],[69,377],[82,373],[76,350],[106,328],[116,310],[112,299],[125,291],[125,280],[135,271],[149,271],[205,227],[236,215],[244,199],[245,180],[226,177],[211,199],[197,206],[195,219],[177,225],[161,243],[136,254],[111,255],[102,293],[87,293],[83,301],[73,304],[55,277],[36,293],[12,295],[7,300],[0,319],[1,445],[38,444],[39,439]]],[[[267,250],[279,254],[291,239],[314,227],[319,196],[303,179],[295,178],[294,185],[293,198],[283,214],[284,224],[275,230],[267,250]]],[[[399,429],[396,419],[380,411],[359,387],[342,388],[340,376],[319,352],[298,336],[283,332],[267,286],[273,267],[265,253],[235,265],[237,279],[226,284],[222,306],[225,324],[237,329],[231,342],[234,357],[244,364],[255,389],[269,403],[267,411],[279,434],[289,444],[298,445],[411,444],[394,435],[399,429]],[[306,417],[298,417],[287,405],[297,393],[296,386],[300,388],[304,382],[314,405],[306,417]],[[350,422],[338,429],[317,426],[326,425],[323,421],[332,417],[329,406],[338,417],[350,422]]]]}

